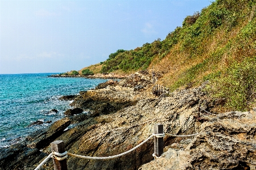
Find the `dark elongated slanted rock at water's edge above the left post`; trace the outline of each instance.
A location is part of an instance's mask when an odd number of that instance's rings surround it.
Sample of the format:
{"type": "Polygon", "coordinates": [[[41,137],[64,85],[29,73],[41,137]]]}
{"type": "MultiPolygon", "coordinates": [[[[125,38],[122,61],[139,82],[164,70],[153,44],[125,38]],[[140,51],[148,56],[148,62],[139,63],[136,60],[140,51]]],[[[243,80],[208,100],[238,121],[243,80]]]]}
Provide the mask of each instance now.
{"type": "Polygon", "coordinates": [[[52,125],[46,129],[38,130],[28,135],[23,143],[30,148],[38,148],[40,150],[63,134],[65,128],[67,128],[70,123],[71,121],[68,118],[60,119],[52,123],[52,125]]]}

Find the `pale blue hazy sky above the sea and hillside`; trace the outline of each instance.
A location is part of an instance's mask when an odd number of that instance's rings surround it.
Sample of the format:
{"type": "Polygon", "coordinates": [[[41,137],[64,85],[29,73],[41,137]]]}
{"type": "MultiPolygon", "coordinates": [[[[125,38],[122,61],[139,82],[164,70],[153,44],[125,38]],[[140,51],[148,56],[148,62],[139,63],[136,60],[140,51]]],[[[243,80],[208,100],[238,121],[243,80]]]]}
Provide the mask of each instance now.
{"type": "Polygon", "coordinates": [[[209,0],[0,0],[0,74],[62,73],[165,39],[209,0]]]}

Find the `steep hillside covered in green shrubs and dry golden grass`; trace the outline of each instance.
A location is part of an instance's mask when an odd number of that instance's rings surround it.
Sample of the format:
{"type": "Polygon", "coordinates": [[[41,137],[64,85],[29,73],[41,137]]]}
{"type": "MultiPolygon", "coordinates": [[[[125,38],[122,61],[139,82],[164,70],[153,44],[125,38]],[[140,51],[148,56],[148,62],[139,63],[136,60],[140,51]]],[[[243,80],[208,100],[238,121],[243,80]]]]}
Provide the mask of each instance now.
{"type": "Polygon", "coordinates": [[[209,95],[221,100],[222,111],[250,109],[256,98],[255,10],[253,0],[217,0],[187,16],[166,39],[118,50],[89,68],[94,73],[154,69],[163,75],[158,83],[172,90],[209,80],[209,95]]]}

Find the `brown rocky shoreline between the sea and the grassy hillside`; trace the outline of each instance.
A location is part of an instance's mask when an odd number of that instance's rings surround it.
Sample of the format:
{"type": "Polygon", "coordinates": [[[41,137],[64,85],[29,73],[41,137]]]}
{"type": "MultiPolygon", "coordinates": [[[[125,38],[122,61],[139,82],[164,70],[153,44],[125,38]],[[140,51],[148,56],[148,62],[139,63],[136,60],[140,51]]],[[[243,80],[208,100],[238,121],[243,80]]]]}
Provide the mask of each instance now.
{"type": "MultiPolygon", "coordinates": [[[[51,153],[49,144],[54,140],[63,140],[65,150],[72,154],[121,154],[148,138],[155,123],[162,123],[169,134],[199,135],[165,136],[164,154],[158,159],[152,156],[153,140],[148,140],[118,159],[68,157],[68,169],[255,169],[256,109],[217,115],[204,115],[202,111],[198,117],[199,107],[212,111],[218,106],[205,94],[205,84],[159,98],[151,94],[151,86],[150,74],[138,72],[77,96],[62,97],[73,101],[73,109],[45,130],[36,131],[11,147],[0,148],[0,170],[35,169],[51,153]]],[[[42,169],[52,167],[50,160],[42,169]]]]}

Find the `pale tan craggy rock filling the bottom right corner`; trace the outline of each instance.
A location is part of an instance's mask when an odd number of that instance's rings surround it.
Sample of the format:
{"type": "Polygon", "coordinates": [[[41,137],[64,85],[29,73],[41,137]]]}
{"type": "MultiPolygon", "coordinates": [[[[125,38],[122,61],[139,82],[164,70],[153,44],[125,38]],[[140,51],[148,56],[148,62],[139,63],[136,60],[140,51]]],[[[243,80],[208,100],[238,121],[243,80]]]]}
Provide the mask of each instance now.
{"type": "Polygon", "coordinates": [[[171,146],[140,169],[255,169],[255,122],[255,111],[220,114],[187,147],[171,146]]]}

